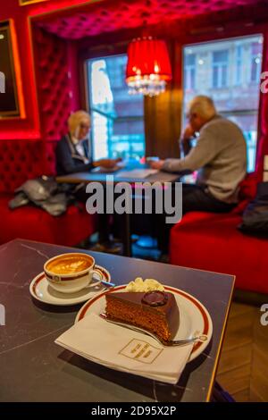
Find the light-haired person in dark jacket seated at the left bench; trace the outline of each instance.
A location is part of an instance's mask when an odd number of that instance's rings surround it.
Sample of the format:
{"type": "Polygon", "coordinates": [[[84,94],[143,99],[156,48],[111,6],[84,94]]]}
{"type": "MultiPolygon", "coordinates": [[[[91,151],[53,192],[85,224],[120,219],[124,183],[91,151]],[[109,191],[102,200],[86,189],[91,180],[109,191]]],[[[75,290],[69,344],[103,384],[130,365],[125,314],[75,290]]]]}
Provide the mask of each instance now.
{"type": "MultiPolygon", "coordinates": [[[[88,172],[96,166],[103,166],[110,169],[117,162],[121,161],[121,159],[100,159],[95,162],[93,161],[88,140],[90,115],[85,111],[71,113],[68,119],[68,127],[69,132],[58,142],[55,150],[57,175],[88,172]]],[[[84,183],[73,186],[72,193],[84,202],[89,197],[84,183]]],[[[99,214],[98,218],[99,244],[96,246],[96,250],[113,251],[113,245],[109,242],[109,217],[106,214],[99,214]]]]}

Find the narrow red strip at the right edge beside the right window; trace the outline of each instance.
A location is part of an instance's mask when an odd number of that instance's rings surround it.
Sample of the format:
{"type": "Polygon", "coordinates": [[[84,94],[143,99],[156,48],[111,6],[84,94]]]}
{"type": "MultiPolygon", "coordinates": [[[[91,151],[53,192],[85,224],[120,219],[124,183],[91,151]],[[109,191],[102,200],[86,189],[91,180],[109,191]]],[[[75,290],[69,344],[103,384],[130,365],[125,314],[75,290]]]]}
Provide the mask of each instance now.
{"type": "MultiPolygon", "coordinates": [[[[268,71],[268,31],[264,33],[264,56],[263,72],[268,71]]],[[[266,78],[267,79],[267,78],[266,78]]],[[[264,84],[264,79],[261,83],[264,84]]],[[[266,81],[265,88],[268,88],[266,81]]],[[[258,181],[263,181],[264,155],[268,155],[268,92],[260,93],[260,113],[259,113],[259,141],[256,153],[256,174],[258,181]]]]}

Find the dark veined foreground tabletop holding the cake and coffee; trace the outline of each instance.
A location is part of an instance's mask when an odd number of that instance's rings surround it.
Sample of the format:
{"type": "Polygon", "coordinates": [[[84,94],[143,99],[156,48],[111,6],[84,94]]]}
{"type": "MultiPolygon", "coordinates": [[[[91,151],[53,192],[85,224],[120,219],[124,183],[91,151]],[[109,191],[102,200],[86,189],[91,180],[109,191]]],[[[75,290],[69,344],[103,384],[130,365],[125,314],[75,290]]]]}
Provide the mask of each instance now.
{"type": "MultiPolygon", "coordinates": [[[[153,277],[185,290],[209,311],[213,339],[204,353],[186,365],[176,385],[123,374],[63,350],[54,340],[72,323],[81,305],[53,307],[31,298],[30,281],[47,258],[71,252],[24,239],[0,247],[1,401],[205,401],[209,400],[227,322],[234,278],[220,273],[163,265],[135,258],[90,252],[116,284],[137,276],[153,277]]],[[[86,252],[86,251],[85,251],[86,252]]]]}

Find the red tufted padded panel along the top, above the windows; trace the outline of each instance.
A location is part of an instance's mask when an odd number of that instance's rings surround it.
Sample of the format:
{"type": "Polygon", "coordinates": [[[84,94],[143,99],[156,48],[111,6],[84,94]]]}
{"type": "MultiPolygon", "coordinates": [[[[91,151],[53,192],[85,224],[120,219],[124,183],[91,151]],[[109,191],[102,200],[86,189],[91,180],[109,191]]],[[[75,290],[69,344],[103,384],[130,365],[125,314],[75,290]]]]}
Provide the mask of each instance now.
{"type": "Polygon", "coordinates": [[[80,39],[258,3],[257,0],[105,0],[47,14],[38,20],[38,26],[61,38],[80,39]]]}

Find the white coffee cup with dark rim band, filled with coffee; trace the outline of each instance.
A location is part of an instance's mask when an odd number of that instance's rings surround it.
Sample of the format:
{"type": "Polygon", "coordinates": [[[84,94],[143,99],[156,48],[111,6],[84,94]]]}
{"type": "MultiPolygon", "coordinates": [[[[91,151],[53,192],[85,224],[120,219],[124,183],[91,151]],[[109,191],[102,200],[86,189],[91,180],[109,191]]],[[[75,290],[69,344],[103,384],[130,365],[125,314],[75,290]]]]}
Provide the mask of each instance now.
{"type": "Polygon", "coordinates": [[[96,286],[104,280],[104,275],[95,267],[93,256],[71,252],[54,256],[46,261],[44,272],[50,286],[62,293],[74,293],[86,287],[96,286]],[[97,275],[98,280],[93,278],[97,275]]]}

